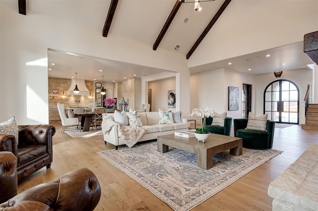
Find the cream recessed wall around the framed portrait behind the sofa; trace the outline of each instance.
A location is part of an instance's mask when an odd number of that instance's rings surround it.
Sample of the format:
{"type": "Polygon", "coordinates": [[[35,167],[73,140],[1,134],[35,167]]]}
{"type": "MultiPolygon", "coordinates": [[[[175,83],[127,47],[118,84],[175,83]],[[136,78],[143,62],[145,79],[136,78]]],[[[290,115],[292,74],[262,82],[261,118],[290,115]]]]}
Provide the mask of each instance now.
{"type": "Polygon", "coordinates": [[[175,90],[175,77],[148,82],[148,88],[152,91],[152,111],[171,109],[175,112],[176,108],[168,108],[168,90],[175,90]]]}

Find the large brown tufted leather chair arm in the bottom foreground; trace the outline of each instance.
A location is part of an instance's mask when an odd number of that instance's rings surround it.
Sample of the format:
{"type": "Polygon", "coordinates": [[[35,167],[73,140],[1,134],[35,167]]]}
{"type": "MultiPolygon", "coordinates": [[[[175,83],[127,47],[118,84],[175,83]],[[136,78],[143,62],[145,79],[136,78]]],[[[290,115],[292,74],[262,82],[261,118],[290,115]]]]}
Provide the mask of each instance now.
{"type": "Polygon", "coordinates": [[[62,210],[92,211],[99,202],[101,189],[88,168],[74,170],[59,179],[32,187],[0,204],[0,211],[62,210]]]}

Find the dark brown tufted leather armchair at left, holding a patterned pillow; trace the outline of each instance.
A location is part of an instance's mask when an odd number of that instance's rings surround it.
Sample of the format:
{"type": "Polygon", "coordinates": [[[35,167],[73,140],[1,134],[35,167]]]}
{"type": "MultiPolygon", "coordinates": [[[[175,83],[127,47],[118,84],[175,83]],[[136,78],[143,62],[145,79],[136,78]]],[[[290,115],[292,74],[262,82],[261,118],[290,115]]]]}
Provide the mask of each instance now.
{"type": "Polygon", "coordinates": [[[49,168],[53,161],[53,125],[19,125],[18,144],[13,135],[0,134],[0,151],[13,153],[17,158],[17,180],[29,176],[40,168],[49,168]]]}

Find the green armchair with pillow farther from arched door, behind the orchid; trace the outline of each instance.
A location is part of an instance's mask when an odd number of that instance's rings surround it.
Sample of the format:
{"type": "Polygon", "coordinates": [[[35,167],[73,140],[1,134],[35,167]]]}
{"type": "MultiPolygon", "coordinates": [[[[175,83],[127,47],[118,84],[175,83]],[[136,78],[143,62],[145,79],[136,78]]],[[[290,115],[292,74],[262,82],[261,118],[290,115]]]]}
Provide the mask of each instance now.
{"type": "Polygon", "coordinates": [[[227,113],[218,114],[214,112],[214,117],[208,117],[206,119],[206,130],[211,133],[220,135],[231,135],[232,130],[232,117],[226,117],[227,113]]]}

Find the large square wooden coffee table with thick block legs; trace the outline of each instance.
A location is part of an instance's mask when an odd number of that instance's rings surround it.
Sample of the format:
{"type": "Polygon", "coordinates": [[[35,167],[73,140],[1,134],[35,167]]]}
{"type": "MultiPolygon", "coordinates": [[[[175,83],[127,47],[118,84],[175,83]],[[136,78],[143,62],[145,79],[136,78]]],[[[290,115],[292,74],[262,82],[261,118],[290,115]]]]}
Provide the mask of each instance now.
{"type": "Polygon", "coordinates": [[[194,153],[198,156],[198,166],[209,169],[213,166],[213,155],[230,150],[231,155],[242,155],[242,139],[211,133],[206,143],[193,138],[184,138],[174,134],[158,136],[157,150],[160,153],[169,151],[169,146],[194,153]]]}

